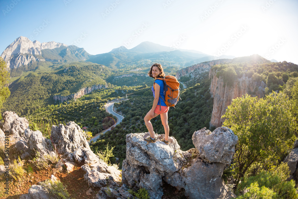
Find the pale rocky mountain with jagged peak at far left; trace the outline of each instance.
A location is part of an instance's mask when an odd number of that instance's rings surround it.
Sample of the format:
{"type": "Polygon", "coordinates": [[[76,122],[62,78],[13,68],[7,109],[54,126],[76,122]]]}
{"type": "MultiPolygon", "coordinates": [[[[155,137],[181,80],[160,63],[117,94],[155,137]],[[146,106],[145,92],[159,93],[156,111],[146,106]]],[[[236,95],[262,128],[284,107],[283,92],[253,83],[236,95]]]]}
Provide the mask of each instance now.
{"type": "Polygon", "coordinates": [[[1,54],[7,69],[22,67],[39,61],[81,61],[90,56],[83,48],[67,46],[55,41],[40,43],[20,36],[1,54]]]}

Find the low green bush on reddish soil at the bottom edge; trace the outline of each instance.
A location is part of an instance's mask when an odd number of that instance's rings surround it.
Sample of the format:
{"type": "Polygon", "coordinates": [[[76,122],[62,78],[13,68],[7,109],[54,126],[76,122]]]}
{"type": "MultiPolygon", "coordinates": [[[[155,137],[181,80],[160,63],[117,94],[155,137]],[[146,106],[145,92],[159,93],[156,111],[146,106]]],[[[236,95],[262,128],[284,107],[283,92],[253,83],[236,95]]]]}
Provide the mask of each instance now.
{"type": "Polygon", "coordinates": [[[69,193],[66,190],[66,186],[63,186],[60,181],[51,181],[46,180],[44,182],[40,182],[41,186],[44,187],[46,192],[55,199],[68,199],[69,193]]]}

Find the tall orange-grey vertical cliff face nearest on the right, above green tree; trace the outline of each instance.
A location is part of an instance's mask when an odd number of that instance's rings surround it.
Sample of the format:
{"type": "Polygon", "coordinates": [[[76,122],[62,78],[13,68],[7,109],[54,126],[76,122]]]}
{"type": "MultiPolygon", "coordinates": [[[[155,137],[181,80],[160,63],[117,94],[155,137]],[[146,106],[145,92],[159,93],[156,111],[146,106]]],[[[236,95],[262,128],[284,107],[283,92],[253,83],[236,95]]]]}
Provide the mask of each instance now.
{"type": "Polygon", "coordinates": [[[228,87],[224,85],[221,77],[216,77],[216,71],[212,70],[209,71],[209,78],[212,78],[210,93],[214,98],[210,127],[220,127],[223,124],[224,118],[221,116],[225,114],[226,108],[232,103],[232,99],[241,97],[246,93],[258,98],[265,96],[266,84],[263,81],[257,83],[252,78],[243,75],[234,82],[232,87],[228,87]]]}

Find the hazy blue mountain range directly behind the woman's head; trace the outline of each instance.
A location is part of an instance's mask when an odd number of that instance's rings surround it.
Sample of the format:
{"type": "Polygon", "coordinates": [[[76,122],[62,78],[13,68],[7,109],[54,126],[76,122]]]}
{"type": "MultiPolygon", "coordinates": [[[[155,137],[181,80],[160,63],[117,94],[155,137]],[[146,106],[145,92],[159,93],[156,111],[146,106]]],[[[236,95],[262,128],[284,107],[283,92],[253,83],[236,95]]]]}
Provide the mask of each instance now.
{"type": "MultiPolygon", "coordinates": [[[[132,49],[124,46],[114,48],[108,53],[91,55],[87,61],[104,64],[114,69],[127,68],[127,66],[140,66],[140,63],[149,61],[160,62],[164,66],[178,66],[184,68],[189,66],[186,63],[206,57],[207,54],[196,50],[175,49],[173,47],[162,46],[149,41],[142,42],[132,49]]],[[[209,56],[209,55],[208,55],[209,56]]],[[[204,61],[213,60],[214,57],[207,57],[204,61]]],[[[199,62],[195,62],[197,64],[199,62]]],[[[142,64],[143,65],[143,64],[142,64]]],[[[150,67],[150,66],[149,66],[150,67]]]]}

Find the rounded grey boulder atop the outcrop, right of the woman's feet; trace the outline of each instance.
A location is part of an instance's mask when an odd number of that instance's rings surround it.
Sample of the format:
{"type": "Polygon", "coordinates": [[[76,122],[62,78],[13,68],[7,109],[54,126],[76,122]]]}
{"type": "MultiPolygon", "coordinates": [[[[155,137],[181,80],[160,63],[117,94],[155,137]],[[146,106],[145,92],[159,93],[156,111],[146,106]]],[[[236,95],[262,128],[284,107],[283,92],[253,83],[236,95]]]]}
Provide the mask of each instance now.
{"type": "Polygon", "coordinates": [[[227,127],[218,127],[213,132],[206,127],[193,133],[193,144],[204,161],[229,163],[235,153],[237,135],[227,127]]]}

